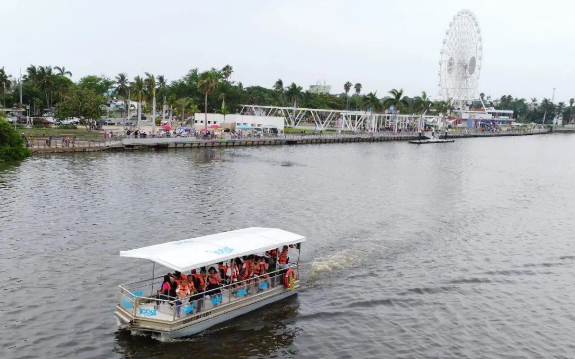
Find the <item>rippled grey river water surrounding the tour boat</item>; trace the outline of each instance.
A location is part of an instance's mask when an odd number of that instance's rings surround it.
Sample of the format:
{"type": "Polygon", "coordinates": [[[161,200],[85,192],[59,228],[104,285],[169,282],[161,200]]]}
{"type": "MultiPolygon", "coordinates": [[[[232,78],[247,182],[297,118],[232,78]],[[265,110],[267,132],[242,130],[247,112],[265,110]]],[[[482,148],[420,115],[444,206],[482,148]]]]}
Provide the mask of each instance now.
{"type": "Polygon", "coordinates": [[[573,358],[575,136],[34,157],[0,167],[0,358],[573,358]],[[304,290],[132,337],[118,251],[308,236],[304,290]]]}

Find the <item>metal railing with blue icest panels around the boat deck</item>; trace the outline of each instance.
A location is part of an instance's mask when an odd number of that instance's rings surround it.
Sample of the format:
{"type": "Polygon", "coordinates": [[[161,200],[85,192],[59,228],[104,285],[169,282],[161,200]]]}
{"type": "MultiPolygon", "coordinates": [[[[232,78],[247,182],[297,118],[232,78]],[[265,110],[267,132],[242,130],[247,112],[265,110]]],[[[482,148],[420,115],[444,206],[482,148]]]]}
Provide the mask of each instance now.
{"type": "Polygon", "coordinates": [[[283,285],[283,275],[289,269],[295,272],[295,280],[298,278],[298,268],[299,264],[290,265],[270,273],[221,285],[218,288],[206,289],[203,293],[194,293],[182,298],[155,294],[153,292],[154,284],[162,284],[156,280],[163,279],[163,277],[157,277],[149,279],[148,284],[144,284],[144,281],[138,281],[120,285],[116,299],[120,301],[121,307],[129,311],[132,316],[173,322],[185,316],[211,311],[219,305],[242,301],[257,293],[264,292],[266,289],[274,288],[276,285],[283,285]],[[146,287],[151,287],[151,289],[146,287]],[[147,296],[148,291],[151,293],[150,296],[147,296]]]}

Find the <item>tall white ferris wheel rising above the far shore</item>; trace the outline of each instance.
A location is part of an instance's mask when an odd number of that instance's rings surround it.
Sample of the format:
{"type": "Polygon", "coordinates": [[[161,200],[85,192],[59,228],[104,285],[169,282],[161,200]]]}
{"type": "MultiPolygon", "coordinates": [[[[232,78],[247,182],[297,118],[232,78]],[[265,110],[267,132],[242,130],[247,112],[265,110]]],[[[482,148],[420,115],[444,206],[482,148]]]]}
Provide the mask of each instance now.
{"type": "Polygon", "coordinates": [[[444,100],[451,98],[455,109],[463,110],[477,98],[481,72],[481,29],[471,10],[461,10],[445,32],[439,60],[439,89],[444,100]]]}

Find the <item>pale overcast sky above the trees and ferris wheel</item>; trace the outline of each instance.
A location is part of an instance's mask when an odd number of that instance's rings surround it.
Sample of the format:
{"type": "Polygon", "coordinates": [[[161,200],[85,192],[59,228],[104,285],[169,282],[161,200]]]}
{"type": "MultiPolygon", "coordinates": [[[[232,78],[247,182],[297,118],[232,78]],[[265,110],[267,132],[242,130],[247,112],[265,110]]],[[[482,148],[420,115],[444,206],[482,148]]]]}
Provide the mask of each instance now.
{"type": "Polygon", "coordinates": [[[318,79],[343,91],[361,82],[379,97],[438,92],[445,31],[461,9],[480,22],[479,91],[499,97],[575,97],[573,1],[3,1],[0,67],[66,66],[130,78],[182,77],[190,68],[233,66],[232,81],[308,89],[318,79]],[[12,22],[9,19],[20,19],[12,22]]]}

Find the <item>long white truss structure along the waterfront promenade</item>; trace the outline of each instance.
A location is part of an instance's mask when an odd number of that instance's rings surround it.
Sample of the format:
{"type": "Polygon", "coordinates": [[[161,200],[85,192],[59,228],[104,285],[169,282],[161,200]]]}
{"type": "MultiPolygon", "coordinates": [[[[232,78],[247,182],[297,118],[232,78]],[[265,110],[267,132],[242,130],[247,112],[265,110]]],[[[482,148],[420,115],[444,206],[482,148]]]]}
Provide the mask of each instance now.
{"type": "Polygon", "coordinates": [[[407,129],[422,128],[424,124],[433,123],[437,116],[419,114],[371,113],[365,111],[309,109],[282,106],[241,105],[242,114],[254,116],[283,117],[286,127],[298,127],[302,121],[312,119],[318,131],[324,129],[342,129],[347,131],[378,131],[381,128],[407,129]]]}

